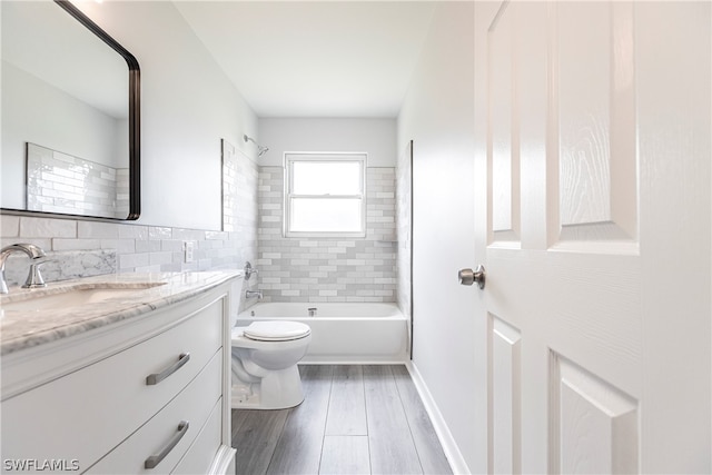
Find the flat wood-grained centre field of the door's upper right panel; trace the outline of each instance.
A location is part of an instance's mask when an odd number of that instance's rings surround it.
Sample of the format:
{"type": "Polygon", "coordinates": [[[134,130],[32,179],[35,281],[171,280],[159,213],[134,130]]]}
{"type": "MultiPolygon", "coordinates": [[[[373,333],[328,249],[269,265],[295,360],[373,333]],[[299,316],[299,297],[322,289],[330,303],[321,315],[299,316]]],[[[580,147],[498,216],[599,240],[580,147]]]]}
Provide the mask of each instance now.
{"type": "Polygon", "coordinates": [[[563,226],[611,220],[611,4],[556,10],[560,204],[563,226]],[[585,66],[581,43],[586,44],[585,66]]]}

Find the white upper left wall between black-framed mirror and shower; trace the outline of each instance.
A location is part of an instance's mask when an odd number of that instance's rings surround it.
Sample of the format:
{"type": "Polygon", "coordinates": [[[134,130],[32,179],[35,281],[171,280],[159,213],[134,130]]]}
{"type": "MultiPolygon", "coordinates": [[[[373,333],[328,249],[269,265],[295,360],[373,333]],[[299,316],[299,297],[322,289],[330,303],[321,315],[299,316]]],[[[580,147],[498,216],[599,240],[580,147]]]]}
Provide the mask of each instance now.
{"type": "Polygon", "coordinates": [[[257,117],[171,2],[78,6],[141,68],[138,222],[219,229],[220,138],[256,156],[257,117]]]}

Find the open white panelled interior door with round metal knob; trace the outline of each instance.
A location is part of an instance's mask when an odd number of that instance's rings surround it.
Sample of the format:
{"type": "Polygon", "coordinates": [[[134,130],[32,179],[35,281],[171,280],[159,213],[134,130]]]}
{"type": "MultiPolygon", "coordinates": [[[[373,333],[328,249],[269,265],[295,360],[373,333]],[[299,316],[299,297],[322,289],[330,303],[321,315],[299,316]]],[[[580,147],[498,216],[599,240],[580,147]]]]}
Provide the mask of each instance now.
{"type": "Polygon", "coordinates": [[[475,9],[488,471],[710,473],[711,4],[475,9]]]}

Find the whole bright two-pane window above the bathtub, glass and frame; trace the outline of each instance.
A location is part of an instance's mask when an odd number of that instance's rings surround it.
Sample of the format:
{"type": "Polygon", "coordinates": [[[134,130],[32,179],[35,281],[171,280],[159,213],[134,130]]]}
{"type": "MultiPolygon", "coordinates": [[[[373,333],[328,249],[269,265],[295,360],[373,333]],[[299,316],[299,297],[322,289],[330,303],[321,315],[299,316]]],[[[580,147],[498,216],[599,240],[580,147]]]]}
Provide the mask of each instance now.
{"type": "Polygon", "coordinates": [[[285,235],[366,236],[365,154],[288,154],[285,235]]]}

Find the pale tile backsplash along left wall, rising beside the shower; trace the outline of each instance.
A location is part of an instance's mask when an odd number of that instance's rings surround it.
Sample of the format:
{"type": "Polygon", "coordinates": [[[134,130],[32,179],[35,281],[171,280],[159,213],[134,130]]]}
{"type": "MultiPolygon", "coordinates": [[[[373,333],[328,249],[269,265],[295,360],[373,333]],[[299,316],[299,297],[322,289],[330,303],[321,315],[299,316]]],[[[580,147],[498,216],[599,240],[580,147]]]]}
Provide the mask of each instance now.
{"type": "MultiPolygon", "coordinates": [[[[47,281],[113,273],[241,269],[246,260],[257,260],[258,172],[253,160],[236,157],[240,192],[234,231],[2,215],[0,244],[41,246],[49,259],[42,266],[47,281]],[[192,263],[184,263],[185,241],[195,243],[192,263]]],[[[13,255],[6,266],[8,283],[23,283],[27,269],[28,258],[13,255]]]]}

